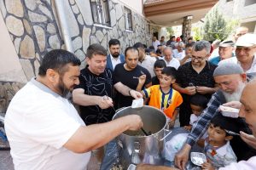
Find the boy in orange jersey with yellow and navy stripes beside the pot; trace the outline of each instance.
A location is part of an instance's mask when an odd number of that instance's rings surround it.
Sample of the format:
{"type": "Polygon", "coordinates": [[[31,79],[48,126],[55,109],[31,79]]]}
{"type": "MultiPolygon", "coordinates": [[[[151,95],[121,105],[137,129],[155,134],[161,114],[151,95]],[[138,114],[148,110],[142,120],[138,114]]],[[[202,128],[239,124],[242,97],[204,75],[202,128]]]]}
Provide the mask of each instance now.
{"type": "Polygon", "coordinates": [[[162,110],[170,119],[170,127],[174,126],[178,106],[183,103],[181,94],[172,88],[172,84],[176,81],[176,75],[175,68],[166,67],[161,72],[160,85],[154,85],[142,91],[143,96],[149,98],[148,105],[162,110]]]}

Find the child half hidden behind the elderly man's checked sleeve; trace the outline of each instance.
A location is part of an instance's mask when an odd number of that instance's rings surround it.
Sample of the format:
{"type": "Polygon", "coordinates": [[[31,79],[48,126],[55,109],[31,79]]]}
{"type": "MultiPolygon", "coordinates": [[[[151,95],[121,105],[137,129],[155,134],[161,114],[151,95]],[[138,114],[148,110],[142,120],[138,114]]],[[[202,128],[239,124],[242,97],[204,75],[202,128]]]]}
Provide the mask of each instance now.
{"type": "Polygon", "coordinates": [[[188,131],[192,129],[193,124],[198,120],[198,117],[201,116],[201,113],[204,109],[207,108],[208,99],[201,95],[195,94],[190,99],[190,107],[192,110],[192,114],[190,116],[189,126],[184,126],[184,128],[188,131]]]}

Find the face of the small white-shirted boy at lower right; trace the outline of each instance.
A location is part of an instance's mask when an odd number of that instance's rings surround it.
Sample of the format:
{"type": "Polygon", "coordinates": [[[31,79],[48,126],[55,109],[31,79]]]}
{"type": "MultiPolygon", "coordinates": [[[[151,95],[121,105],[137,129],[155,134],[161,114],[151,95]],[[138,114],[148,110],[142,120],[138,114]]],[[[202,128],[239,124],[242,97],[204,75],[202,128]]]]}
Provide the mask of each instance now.
{"type": "Polygon", "coordinates": [[[232,139],[232,136],[226,136],[224,129],[220,127],[214,127],[211,123],[208,127],[208,137],[209,141],[212,141],[212,144],[221,145],[225,144],[225,141],[232,139]]]}

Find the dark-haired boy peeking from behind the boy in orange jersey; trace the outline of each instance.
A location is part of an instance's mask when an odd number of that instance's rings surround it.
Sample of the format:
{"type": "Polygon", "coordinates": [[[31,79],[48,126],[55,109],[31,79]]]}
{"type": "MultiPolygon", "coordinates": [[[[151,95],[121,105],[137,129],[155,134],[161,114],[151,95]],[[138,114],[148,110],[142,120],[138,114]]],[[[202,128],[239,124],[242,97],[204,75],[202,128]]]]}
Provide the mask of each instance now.
{"type": "Polygon", "coordinates": [[[158,59],[154,62],[154,74],[152,77],[152,85],[160,84],[159,79],[163,69],[166,68],[166,62],[163,59],[158,59]]]}

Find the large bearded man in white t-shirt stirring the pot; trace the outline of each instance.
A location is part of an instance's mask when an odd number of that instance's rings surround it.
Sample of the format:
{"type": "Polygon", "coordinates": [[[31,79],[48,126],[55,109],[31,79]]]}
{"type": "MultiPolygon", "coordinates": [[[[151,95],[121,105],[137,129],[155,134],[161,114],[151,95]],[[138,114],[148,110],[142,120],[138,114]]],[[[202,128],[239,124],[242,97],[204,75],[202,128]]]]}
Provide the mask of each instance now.
{"type": "Polygon", "coordinates": [[[85,126],[66,94],[79,84],[79,59],[55,49],[45,54],[38,77],[15,94],[5,130],[16,170],[84,170],[94,150],[123,133],[137,130],[139,116],[85,126]]]}

